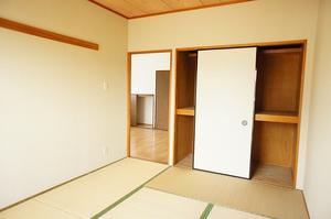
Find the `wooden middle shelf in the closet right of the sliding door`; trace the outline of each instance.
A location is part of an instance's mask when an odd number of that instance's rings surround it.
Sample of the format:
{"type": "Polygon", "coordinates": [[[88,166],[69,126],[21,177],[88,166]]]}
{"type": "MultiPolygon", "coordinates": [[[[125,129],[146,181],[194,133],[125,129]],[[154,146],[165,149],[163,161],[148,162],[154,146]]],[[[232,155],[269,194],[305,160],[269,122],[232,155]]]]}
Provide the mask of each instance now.
{"type": "Polygon", "coordinates": [[[255,113],[255,121],[280,122],[280,123],[299,123],[299,117],[292,112],[269,112],[261,111],[255,113]]]}

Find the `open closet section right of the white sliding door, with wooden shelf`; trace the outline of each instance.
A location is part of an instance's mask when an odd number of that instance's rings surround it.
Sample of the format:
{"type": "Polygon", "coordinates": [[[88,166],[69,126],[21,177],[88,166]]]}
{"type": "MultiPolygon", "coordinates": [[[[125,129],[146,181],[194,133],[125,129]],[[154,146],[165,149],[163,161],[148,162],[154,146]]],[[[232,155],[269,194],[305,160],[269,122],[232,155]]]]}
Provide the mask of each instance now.
{"type": "Polygon", "coordinates": [[[258,47],[252,178],[293,187],[302,45],[258,47]]]}

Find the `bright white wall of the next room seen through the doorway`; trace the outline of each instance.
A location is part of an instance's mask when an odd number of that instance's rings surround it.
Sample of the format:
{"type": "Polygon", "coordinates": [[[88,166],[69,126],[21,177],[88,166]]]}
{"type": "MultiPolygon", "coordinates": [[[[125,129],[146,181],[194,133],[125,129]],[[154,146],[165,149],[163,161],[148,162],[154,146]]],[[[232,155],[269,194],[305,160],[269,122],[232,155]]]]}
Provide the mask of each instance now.
{"type": "Polygon", "coordinates": [[[131,94],[156,94],[156,70],[170,70],[170,53],[131,56],[131,94]]]}

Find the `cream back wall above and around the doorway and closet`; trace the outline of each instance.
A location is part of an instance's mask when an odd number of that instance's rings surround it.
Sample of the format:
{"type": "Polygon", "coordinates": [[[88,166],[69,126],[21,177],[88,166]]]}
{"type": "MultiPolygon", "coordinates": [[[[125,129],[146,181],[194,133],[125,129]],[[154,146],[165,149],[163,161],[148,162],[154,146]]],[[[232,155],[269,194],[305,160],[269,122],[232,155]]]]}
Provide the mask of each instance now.
{"type": "MultiPolygon", "coordinates": [[[[302,188],[314,47],[317,0],[257,0],[129,20],[129,51],[308,40],[297,187],[302,188]]],[[[173,57],[173,65],[175,55],[173,57]]],[[[172,68],[174,69],[174,68],[172,68]]],[[[173,74],[174,77],[174,74],[173,74]]],[[[174,78],[172,78],[173,81],[174,78]]],[[[174,84],[170,142],[173,143],[174,84]]],[[[171,152],[173,151],[171,144],[171,152]]],[[[170,154],[172,161],[173,154],[170,154]]]]}

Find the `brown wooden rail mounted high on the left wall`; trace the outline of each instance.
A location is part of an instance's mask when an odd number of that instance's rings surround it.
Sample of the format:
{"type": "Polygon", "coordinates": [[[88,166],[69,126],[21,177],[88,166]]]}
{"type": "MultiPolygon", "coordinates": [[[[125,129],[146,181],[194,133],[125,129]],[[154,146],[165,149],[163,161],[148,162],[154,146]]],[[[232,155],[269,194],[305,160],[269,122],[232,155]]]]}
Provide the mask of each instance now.
{"type": "Polygon", "coordinates": [[[34,28],[34,26],[31,26],[31,25],[26,25],[26,24],[19,23],[19,22],[15,22],[15,21],[3,19],[3,18],[0,18],[0,26],[4,28],[4,29],[9,29],[9,30],[13,30],[13,31],[18,31],[18,32],[22,32],[22,33],[26,33],[26,34],[31,34],[31,35],[44,37],[44,39],[49,39],[49,40],[52,40],[52,41],[58,41],[58,42],[62,42],[62,43],[77,45],[77,46],[82,46],[82,47],[86,47],[86,48],[90,48],[90,50],[95,50],[95,51],[99,50],[99,45],[96,44],[96,43],[92,43],[92,42],[84,41],[84,40],[81,40],[81,39],[75,39],[75,37],[72,37],[72,36],[54,33],[54,32],[51,32],[51,31],[34,28]]]}

